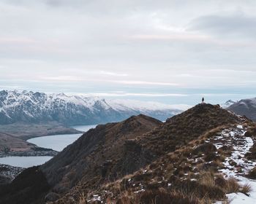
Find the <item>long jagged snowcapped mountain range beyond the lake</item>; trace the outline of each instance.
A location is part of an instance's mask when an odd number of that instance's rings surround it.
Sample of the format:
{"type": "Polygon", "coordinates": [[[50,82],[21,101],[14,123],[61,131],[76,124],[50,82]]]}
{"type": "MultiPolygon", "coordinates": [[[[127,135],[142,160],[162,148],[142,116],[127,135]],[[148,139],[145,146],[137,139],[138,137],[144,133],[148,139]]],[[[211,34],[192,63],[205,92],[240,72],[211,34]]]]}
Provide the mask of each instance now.
{"type": "Polygon", "coordinates": [[[105,100],[83,95],[45,94],[32,91],[0,91],[0,124],[57,121],[67,125],[116,122],[131,115],[147,114],[165,120],[188,106],[105,100]]]}

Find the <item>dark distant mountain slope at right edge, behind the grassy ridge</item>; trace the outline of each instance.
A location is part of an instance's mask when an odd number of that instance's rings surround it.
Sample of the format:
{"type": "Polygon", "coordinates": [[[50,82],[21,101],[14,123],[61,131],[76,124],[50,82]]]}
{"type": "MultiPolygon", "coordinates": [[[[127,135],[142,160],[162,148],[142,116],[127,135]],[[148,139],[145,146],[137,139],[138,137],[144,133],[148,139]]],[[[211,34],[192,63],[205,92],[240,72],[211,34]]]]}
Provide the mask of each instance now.
{"type": "Polygon", "coordinates": [[[249,119],[256,121],[256,98],[243,99],[231,106],[227,107],[227,110],[233,111],[239,115],[245,115],[249,119]]]}

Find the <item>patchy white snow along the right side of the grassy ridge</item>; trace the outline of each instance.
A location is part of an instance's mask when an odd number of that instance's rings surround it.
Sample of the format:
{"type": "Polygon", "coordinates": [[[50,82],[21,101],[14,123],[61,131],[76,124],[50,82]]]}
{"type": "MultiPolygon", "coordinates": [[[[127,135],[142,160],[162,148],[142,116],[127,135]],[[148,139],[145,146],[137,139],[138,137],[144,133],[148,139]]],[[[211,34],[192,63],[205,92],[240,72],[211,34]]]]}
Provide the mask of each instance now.
{"type": "MultiPolygon", "coordinates": [[[[255,168],[256,162],[247,160],[245,154],[249,152],[249,149],[254,145],[254,141],[251,137],[245,136],[246,127],[243,125],[237,125],[236,127],[231,127],[225,130],[222,130],[217,136],[214,136],[214,146],[217,149],[222,146],[233,146],[233,152],[230,157],[225,159],[225,162],[222,162],[225,168],[219,170],[227,178],[233,177],[238,180],[238,183],[241,185],[249,184],[252,187],[252,192],[249,192],[249,196],[244,195],[243,193],[231,193],[227,197],[231,200],[232,204],[252,204],[256,200],[256,180],[246,178],[246,174],[249,173],[249,170],[255,168]],[[236,167],[230,165],[230,160],[236,162],[236,167]],[[240,167],[240,168],[237,168],[240,167]]],[[[221,203],[221,202],[217,202],[221,203]]]]}

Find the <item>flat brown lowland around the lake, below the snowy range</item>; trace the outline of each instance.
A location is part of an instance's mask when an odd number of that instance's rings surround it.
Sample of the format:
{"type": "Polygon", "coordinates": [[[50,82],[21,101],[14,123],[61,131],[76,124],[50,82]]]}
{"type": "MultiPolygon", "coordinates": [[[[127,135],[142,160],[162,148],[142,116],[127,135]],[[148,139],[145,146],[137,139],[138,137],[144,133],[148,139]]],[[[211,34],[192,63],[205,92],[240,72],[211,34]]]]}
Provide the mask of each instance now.
{"type": "Polygon", "coordinates": [[[58,151],[29,143],[29,139],[42,136],[67,134],[83,134],[83,131],[73,127],[64,127],[53,123],[47,124],[18,124],[0,125],[0,157],[34,157],[56,156],[58,151]],[[17,127],[16,127],[17,125],[17,127]],[[37,131],[38,130],[38,131],[37,131]]]}

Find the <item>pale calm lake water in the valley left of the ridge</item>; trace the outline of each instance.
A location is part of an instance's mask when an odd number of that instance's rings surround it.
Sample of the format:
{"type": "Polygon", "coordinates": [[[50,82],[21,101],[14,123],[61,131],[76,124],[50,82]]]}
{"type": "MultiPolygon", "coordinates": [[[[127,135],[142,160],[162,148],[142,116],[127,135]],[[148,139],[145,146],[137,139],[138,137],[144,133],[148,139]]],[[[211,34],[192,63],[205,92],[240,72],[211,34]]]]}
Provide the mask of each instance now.
{"type": "MultiPolygon", "coordinates": [[[[97,125],[79,125],[73,126],[75,129],[80,131],[88,131],[97,125]]],[[[77,140],[80,134],[67,134],[67,135],[55,135],[55,136],[42,136],[38,138],[31,138],[28,141],[30,143],[36,144],[37,146],[54,149],[56,151],[61,151],[69,144],[72,144],[77,140]]],[[[28,168],[34,165],[42,165],[52,157],[2,157],[0,158],[1,164],[18,166],[23,168],[28,168]]]]}

